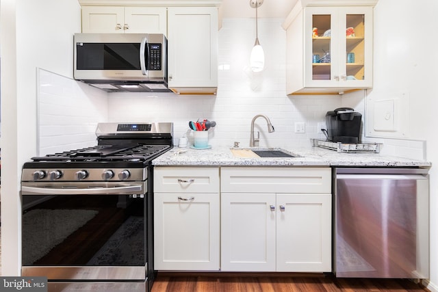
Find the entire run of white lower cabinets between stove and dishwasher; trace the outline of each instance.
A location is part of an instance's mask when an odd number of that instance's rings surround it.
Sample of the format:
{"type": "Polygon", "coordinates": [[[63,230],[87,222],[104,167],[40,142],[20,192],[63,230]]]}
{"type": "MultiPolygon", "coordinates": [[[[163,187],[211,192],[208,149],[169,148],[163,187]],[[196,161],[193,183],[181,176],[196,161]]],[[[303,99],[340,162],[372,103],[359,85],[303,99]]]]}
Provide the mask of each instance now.
{"type": "Polygon", "coordinates": [[[155,167],[154,220],[157,270],[329,272],[331,168],[155,167]]]}

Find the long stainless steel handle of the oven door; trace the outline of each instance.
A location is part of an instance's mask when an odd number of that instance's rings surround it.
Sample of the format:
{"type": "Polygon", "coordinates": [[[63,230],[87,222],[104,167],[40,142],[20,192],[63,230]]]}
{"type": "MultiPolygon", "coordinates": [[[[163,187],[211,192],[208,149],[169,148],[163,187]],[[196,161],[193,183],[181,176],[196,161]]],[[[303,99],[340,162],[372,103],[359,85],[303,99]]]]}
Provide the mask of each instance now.
{"type": "Polygon", "coordinates": [[[100,194],[141,194],[143,191],[142,185],[128,185],[123,187],[92,187],[88,189],[76,188],[61,188],[56,189],[52,187],[21,187],[21,194],[33,195],[100,195],[100,194]]]}

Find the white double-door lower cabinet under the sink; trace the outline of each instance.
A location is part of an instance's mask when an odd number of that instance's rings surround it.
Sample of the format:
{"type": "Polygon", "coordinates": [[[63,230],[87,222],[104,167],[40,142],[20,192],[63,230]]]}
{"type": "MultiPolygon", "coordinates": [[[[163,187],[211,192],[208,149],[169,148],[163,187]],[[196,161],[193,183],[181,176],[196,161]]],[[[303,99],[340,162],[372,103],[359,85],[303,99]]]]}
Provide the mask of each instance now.
{"type": "Polygon", "coordinates": [[[222,168],[222,271],[331,271],[330,180],[330,168],[222,168]]]}

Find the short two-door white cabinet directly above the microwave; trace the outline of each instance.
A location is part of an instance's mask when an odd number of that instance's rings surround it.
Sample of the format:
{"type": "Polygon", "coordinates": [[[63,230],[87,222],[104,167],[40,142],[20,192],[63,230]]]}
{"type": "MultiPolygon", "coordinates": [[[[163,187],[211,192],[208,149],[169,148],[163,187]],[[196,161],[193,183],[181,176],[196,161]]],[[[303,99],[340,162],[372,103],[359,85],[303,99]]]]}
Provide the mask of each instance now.
{"type": "Polygon", "coordinates": [[[166,35],[166,8],[83,6],[82,32],[166,35]]]}

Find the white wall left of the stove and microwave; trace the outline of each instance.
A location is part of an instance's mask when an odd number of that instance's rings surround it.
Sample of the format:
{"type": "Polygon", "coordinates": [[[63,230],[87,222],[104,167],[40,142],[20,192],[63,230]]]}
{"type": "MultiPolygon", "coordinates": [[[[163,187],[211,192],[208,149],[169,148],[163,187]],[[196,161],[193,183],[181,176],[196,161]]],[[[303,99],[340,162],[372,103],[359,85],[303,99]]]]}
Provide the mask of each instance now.
{"type": "Polygon", "coordinates": [[[1,273],[17,276],[21,166],[37,152],[37,68],[73,75],[73,33],[81,29],[81,14],[77,0],[1,0],[0,12],[1,273]]]}

